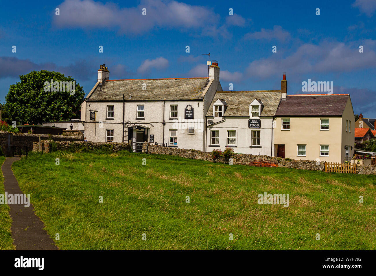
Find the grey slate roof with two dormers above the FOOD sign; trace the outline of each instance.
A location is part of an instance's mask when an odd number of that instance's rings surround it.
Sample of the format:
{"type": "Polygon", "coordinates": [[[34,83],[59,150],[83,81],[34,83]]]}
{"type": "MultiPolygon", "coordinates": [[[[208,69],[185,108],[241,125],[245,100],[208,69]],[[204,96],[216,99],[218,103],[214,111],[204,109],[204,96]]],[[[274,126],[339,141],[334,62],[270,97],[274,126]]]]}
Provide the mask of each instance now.
{"type": "Polygon", "coordinates": [[[260,116],[274,116],[281,97],[280,90],[257,90],[257,91],[217,91],[210,104],[206,116],[213,116],[213,104],[218,100],[225,100],[227,109],[224,117],[249,117],[249,104],[256,98],[262,100],[264,109],[260,116]]]}

